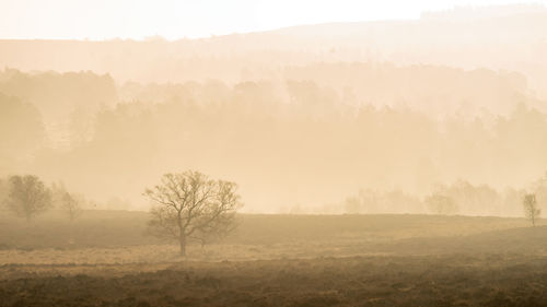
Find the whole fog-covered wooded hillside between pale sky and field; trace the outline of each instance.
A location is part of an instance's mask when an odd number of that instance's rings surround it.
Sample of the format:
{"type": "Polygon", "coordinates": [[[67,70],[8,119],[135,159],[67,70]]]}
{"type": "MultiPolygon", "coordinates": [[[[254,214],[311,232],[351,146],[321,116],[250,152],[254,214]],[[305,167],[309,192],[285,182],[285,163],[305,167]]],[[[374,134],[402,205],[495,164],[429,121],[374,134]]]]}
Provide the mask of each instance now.
{"type": "Polygon", "coordinates": [[[547,10],[456,8],[165,40],[0,40],[0,177],[95,208],[197,169],[244,212],[521,216],[547,204],[547,10]],[[372,197],[374,196],[374,197],[372,197]],[[371,200],[373,199],[373,200],[371,200]]]}

